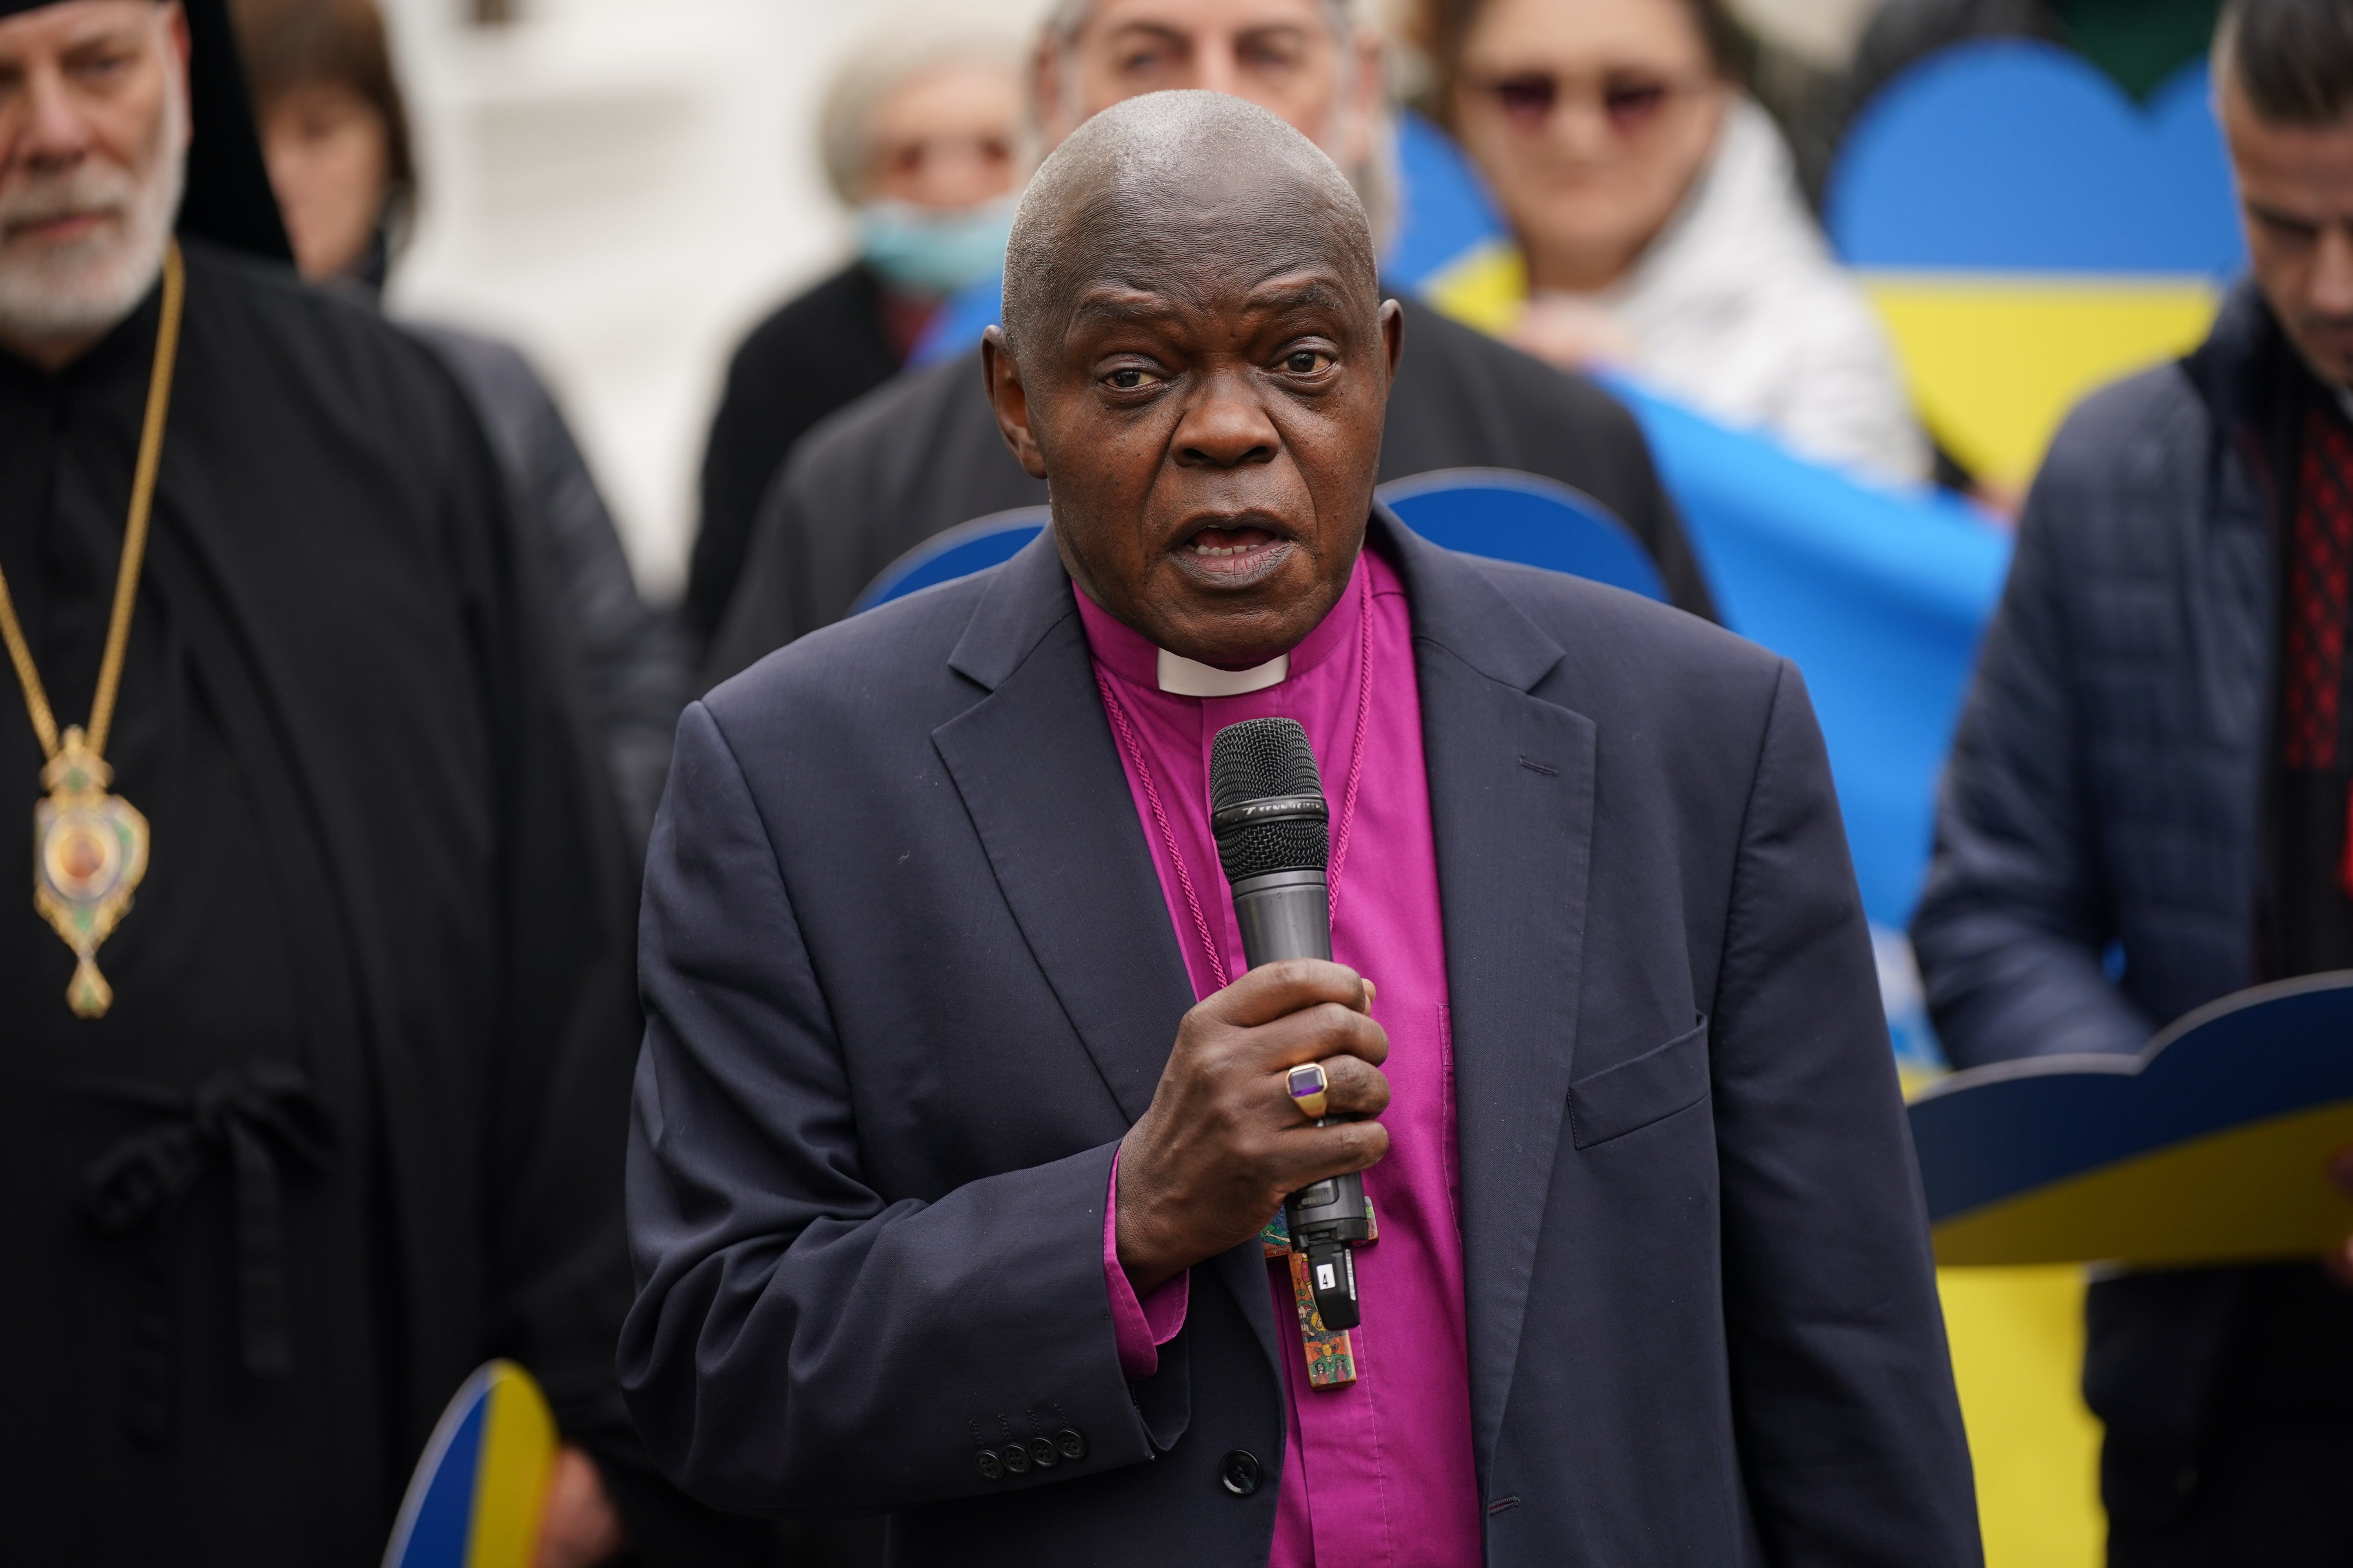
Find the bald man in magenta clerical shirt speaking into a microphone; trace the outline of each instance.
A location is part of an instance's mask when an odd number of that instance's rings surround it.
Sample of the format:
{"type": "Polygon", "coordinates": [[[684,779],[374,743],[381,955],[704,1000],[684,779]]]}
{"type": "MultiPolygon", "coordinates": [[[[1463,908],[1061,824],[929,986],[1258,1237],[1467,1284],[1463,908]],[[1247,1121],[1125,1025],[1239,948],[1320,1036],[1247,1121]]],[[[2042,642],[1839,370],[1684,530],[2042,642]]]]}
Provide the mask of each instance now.
{"type": "Polygon", "coordinates": [[[680,726],[652,1450],[906,1566],[1974,1563],[1795,672],[1374,505],[1400,310],[1259,108],[1089,120],[1007,280],[1047,536],[680,726]]]}

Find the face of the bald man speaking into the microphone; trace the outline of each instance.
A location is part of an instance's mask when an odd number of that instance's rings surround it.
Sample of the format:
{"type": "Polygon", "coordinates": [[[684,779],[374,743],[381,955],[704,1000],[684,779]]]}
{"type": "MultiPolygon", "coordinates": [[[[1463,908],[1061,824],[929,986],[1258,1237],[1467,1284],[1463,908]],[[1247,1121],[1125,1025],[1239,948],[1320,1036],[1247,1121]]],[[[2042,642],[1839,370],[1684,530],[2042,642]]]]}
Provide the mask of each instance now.
{"type": "Polygon", "coordinates": [[[1365,538],[1400,315],[1311,237],[1264,244],[1315,228],[1280,193],[1134,212],[1019,364],[995,329],[984,348],[1007,442],[1052,477],[1071,576],[1202,663],[1297,646],[1365,538]]]}

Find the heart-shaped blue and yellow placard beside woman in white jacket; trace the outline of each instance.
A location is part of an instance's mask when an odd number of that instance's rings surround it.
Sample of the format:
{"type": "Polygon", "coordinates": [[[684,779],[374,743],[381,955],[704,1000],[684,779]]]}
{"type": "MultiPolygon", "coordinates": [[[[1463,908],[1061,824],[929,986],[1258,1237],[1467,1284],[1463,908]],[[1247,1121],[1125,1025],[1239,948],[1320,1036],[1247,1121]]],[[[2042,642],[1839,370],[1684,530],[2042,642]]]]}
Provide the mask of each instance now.
{"type": "Polygon", "coordinates": [[[2092,388],[2195,348],[2245,266],[2205,66],[2146,106],[2057,45],[1932,54],[1857,118],[1828,228],[1937,440],[2024,489],[2092,388]]]}

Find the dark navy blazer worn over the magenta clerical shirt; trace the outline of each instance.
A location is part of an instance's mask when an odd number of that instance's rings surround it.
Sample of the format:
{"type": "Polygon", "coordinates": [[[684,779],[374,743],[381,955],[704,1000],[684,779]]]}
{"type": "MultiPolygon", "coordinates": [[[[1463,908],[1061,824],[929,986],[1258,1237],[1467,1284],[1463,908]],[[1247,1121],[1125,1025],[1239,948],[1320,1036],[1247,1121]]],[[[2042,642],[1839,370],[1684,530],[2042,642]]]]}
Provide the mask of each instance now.
{"type": "MultiPolygon", "coordinates": [[[[1979,1561],[1795,670],[1372,534],[1421,679],[1487,1561],[1979,1561]]],[[[1266,1561],[1299,1342],[1257,1241],[1151,1380],[1113,1345],[1111,1154],[1193,994],[1052,538],[687,710],[642,980],[621,1378],[678,1481],[889,1512],[892,1563],[1266,1561]],[[1233,1495],[1231,1450],[1268,1481],[1233,1495]]]]}

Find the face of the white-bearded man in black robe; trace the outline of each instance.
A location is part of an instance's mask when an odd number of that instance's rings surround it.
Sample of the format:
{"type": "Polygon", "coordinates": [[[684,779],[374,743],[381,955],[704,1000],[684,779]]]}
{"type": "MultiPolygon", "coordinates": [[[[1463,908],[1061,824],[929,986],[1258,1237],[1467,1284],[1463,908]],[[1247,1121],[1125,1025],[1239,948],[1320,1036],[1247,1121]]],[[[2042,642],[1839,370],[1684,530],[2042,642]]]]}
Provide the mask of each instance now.
{"type": "Polygon", "coordinates": [[[179,205],[176,5],[66,0],[0,21],[0,336],[87,339],[153,282],[179,205]]]}

